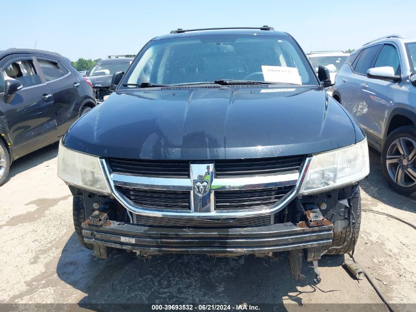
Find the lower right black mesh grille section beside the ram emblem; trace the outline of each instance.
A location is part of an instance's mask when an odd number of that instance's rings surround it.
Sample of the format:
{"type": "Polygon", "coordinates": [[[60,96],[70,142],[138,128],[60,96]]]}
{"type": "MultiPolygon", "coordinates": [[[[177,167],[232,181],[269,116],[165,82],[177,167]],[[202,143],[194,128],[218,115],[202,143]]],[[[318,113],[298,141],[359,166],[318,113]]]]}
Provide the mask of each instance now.
{"type": "Polygon", "coordinates": [[[244,209],[277,204],[294,186],[260,188],[254,190],[216,191],[215,209],[244,209]]]}

